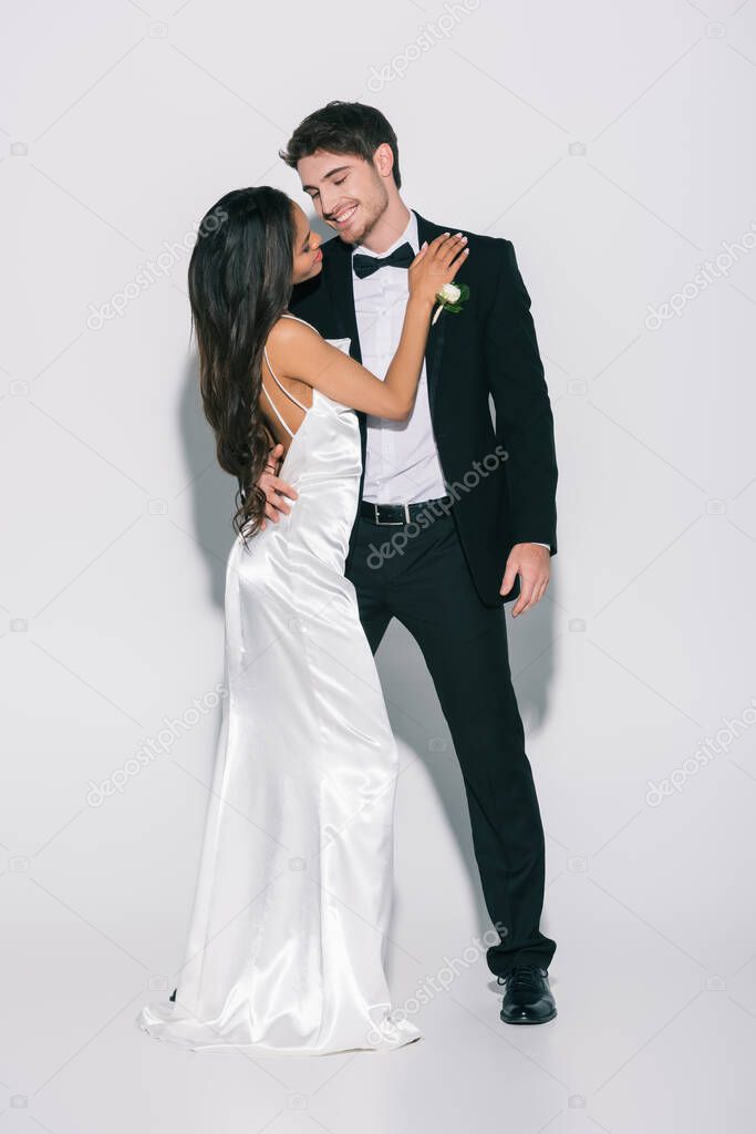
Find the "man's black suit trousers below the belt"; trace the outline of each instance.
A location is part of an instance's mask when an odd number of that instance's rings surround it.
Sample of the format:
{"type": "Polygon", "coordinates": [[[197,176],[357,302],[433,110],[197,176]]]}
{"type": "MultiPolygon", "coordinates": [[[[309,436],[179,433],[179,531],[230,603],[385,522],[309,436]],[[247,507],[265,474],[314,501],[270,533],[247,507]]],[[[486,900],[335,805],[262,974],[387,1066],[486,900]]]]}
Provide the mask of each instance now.
{"type": "Polygon", "coordinates": [[[500,933],[486,953],[491,972],[503,976],[516,964],[547,968],[557,943],[538,928],[543,826],[512,688],[504,610],[481,602],[451,511],[417,528],[362,518],[347,577],[373,653],[398,618],[435,685],[462,772],[483,896],[500,933]]]}

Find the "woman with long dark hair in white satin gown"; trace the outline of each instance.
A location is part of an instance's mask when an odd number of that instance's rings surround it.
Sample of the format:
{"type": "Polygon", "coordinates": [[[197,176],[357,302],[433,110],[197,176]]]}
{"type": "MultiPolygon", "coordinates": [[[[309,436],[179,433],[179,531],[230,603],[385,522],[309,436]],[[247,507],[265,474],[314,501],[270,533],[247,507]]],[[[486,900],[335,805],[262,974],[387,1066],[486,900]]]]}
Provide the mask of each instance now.
{"type": "Polygon", "coordinates": [[[362,457],[355,411],[411,412],[436,295],[467,249],[424,245],[385,380],[287,310],[320,238],[269,186],[223,196],[189,265],[201,391],[238,479],[221,730],[175,1000],[136,1023],[192,1050],[390,1051],[422,1036],[384,974],[398,753],[345,577],[362,457]],[[265,523],[271,440],[297,499],[265,523]]]}

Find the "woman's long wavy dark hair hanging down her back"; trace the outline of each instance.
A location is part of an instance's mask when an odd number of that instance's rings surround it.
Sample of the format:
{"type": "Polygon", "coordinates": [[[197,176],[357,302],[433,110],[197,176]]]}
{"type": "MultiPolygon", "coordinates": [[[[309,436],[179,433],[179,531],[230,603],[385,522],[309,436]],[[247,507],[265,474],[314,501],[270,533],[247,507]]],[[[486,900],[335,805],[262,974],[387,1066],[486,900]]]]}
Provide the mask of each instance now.
{"type": "Polygon", "coordinates": [[[295,223],[286,193],[233,189],[203,217],[189,261],[192,327],[199,390],[221,468],[236,476],[233,530],[258,530],[265,493],[257,480],[270,441],[258,408],[262,356],[292,289],[295,223]]]}

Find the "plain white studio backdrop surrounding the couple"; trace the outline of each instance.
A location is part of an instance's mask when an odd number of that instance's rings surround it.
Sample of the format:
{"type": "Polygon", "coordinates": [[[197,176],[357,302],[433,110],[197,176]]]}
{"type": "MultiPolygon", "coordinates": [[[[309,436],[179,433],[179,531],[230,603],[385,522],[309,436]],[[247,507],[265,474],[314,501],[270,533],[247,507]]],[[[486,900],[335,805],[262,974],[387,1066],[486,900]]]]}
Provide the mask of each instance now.
{"type": "MultiPolygon", "coordinates": [[[[3,16],[0,1134],[749,1129],[756,3],[145,5],[3,16]],[[559,553],[509,627],[560,1015],[500,1023],[478,950],[387,1058],[185,1055],[133,1022],[182,960],[219,710],[100,806],[87,790],[222,679],[235,485],[188,255],[231,188],[306,203],[277,154],[332,98],[383,110],[406,203],[511,239],[533,299],[559,553]],[[737,262],[696,285],[723,242],[737,262]],[[723,717],[740,735],[691,763],[723,717]]],[[[419,652],[394,625],[377,660],[401,1005],[490,923],[419,652]]]]}

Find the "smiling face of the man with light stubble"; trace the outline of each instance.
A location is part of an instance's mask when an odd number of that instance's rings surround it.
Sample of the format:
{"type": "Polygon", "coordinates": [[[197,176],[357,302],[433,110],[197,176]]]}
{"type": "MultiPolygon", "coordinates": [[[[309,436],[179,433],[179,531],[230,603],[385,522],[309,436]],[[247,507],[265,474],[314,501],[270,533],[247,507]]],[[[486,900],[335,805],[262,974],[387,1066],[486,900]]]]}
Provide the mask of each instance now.
{"type": "MultiPolygon", "coordinates": [[[[385,156],[383,146],[375,153],[385,156]]],[[[297,162],[301,187],[317,215],[346,244],[362,244],[388,208],[389,193],[374,161],[375,156],[371,162],[356,154],[316,150],[297,162]]]]}

